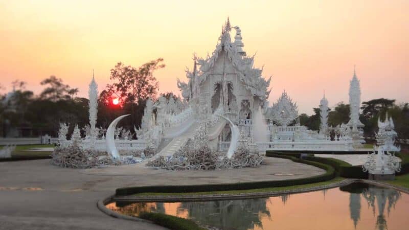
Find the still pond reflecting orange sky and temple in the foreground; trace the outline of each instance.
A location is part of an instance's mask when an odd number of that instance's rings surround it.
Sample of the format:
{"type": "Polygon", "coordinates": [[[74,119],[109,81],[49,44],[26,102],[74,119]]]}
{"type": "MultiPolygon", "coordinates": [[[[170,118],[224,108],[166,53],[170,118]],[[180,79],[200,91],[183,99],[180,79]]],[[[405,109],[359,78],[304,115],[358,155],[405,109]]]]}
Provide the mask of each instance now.
{"type": "Polygon", "coordinates": [[[365,183],[257,199],[106,206],[125,215],[165,213],[225,230],[409,229],[409,195],[365,183]]]}

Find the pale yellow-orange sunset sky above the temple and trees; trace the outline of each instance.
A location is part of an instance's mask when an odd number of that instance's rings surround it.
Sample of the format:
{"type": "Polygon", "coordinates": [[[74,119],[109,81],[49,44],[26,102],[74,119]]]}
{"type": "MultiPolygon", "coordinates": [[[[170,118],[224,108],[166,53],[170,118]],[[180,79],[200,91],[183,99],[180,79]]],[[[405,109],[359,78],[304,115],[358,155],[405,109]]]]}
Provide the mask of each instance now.
{"type": "MultiPolygon", "coordinates": [[[[139,66],[163,57],[160,92],[178,93],[192,54],[212,53],[230,16],[244,49],[272,76],[270,103],[286,89],[312,113],[323,90],[330,106],[348,101],[356,64],[362,100],[409,102],[408,1],[1,1],[0,78],[39,93],[56,75],[80,89],[95,69],[101,91],[119,61],[139,66]],[[384,87],[384,88],[383,88],[384,87]]],[[[4,93],[4,92],[3,92],[4,93]]]]}

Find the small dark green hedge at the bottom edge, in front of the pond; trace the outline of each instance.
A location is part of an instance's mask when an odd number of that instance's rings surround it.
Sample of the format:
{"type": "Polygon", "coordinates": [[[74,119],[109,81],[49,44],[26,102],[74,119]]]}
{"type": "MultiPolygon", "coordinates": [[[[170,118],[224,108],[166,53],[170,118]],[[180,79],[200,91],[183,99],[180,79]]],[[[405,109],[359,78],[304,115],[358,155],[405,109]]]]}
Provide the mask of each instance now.
{"type": "Polygon", "coordinates": [[[150,220],[172,230],[205,230],[194,221],[162,213],[140,213],[139,218],[150,220]]]}

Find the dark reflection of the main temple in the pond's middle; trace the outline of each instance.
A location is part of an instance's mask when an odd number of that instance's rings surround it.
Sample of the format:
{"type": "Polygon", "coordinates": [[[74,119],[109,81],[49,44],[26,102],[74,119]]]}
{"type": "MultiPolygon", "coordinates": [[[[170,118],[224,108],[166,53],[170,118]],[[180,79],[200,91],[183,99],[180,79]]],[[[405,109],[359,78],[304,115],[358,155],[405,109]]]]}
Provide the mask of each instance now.
{"type": "Polygon", "coordinates": [[[218,200],[184,202],[179,209],[186,209],[191,219],[221,229],[253,229],[262,227],[260,219],[270,216],[266,208],[268,198],[244,200],[218,200]]]}

